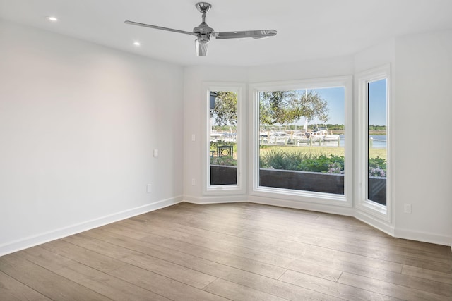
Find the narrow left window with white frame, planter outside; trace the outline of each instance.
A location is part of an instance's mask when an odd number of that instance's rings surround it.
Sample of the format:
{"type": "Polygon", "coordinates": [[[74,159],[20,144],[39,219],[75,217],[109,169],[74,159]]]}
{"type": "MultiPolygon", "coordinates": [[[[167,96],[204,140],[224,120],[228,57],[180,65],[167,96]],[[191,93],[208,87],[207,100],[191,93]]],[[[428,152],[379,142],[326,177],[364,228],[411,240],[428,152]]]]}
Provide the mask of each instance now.
{"type": "Polygon", "coordinates": [[[205,194],[244,192],[242,183],[243,85],[205,85],[205,194]]]}

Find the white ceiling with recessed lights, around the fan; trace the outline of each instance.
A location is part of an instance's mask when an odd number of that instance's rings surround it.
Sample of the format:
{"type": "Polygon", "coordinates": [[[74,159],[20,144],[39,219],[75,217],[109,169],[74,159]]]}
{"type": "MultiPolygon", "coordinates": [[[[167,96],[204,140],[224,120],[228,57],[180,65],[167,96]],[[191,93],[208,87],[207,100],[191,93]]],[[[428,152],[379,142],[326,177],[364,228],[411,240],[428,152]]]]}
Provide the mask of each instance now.
{"type": "Polygon", "coordinates": [[[355,54],[391,37],[452,29],[452,0],[210,0],[215,31],[275,29],[268,39],[212,39],[196,57],[196,0],[0,0],[0,18],[184,66],[256,66],[355,54]],[[46,17],[56,16],[57,23],[46,17]],[[133,46],[140,41],[141,47],[133,46]]]}

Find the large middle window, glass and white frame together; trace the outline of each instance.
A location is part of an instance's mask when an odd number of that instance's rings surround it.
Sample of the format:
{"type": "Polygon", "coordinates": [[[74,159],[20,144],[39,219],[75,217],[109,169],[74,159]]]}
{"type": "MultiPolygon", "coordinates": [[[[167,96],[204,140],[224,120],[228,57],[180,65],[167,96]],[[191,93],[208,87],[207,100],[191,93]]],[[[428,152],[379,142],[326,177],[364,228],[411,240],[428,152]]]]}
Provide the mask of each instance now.
{"type": "Polygon", "coordinates": [[[253,85],[254,194],[351,206],[351,79],[253,85]]]}

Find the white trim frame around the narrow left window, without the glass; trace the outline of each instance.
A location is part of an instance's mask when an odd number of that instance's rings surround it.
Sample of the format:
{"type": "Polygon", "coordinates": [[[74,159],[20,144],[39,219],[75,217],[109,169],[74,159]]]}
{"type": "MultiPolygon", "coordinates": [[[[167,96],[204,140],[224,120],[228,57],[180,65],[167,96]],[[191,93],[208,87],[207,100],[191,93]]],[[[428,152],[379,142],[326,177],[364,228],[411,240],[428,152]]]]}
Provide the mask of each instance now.
{"type": "Polygon", "coordinates": [[[201,175],[203,195],[244,195],[245,185],[245,154],[246,154],[246,85],[239,82],[204,82],[203,93],[203,129],[202,129],[202,168],[201,175]],[[237,185],[210,185],[210,91],[237,92],[237,185]]]}

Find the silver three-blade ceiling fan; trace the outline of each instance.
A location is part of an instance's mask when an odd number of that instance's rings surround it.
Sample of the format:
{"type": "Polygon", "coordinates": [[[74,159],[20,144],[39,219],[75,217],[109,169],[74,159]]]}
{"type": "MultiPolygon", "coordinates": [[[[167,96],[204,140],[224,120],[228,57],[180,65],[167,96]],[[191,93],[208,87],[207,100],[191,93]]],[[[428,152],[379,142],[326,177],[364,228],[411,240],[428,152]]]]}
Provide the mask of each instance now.
{"type": "Polygon", "coordinates": [[[203,21],[199,26],[194,27],[193,32],[184,30],[175,30],[172,28],[161,27],[156,25],[149,25],[144,23],[138,23],[133,21],[125,21],[124,23],[130,25],[138,25],[143,27],[155,28],[157,30],[167,30],[172,32],[179,32],[185,35],[194,35],[197,37],[195,40],[196,56],[206,56],[207,46],[210,41],[210,37],[216,39],[241,39],[245,37],[252,37],[253,39],[261,39],[263,37],[271,37],[276,35],[276,30],[244,30],[244,31],[230,31],[230,32],[215,32],[212,27],[209,27],[206,23],[206,13],[210,11],[212,5],[207,2],[198,2],[195,4],[200,13],[203,14],[203,21]]]}

